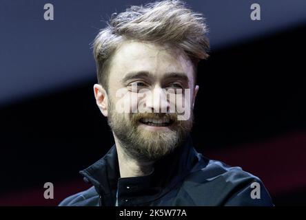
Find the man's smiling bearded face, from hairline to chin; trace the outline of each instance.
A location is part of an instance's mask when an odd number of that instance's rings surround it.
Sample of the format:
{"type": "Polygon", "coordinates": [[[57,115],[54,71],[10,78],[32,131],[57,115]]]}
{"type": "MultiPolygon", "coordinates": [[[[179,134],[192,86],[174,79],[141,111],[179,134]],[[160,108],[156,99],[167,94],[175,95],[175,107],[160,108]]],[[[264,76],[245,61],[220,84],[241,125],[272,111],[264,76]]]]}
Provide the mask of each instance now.
{"type": "Polygon", "coordinates": [[[103,114],[125,153],[156,160],[179,146],[192,129],[198,90],[190,59],[173,48],[126,41],[114,54],[109,74],[107,111],[103,114]],[[119,103],[128,111],[120,111],[119,103]],[[178,120],[178,109],[182,108],[190,113],[178,120]]]}

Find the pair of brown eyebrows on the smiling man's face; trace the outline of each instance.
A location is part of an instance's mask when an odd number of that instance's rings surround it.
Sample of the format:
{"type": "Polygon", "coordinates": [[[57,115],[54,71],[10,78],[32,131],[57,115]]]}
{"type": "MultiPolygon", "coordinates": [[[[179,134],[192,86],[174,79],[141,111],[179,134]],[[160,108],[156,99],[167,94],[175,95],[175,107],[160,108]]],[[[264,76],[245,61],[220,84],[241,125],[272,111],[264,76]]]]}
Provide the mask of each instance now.
{"type": "MultiPolygon", "coordinates": [[[[126,74],[125,77],[123,77],[123,79],[121,80],[121,82],[126,82],[128,80],[132,80],[134,78],[154,78],[155,76],[152,75],[150,72],[146,72],[146,71],[140,71],[140,72],[130,72],[128,74],[126,74]]],[[[189,78],[186,76],[186,74],[183,74],[181,72],[168,72],[165,73],[164,79],[167,78],[180,78],[181,80],[185,80],[187,83],[189,83],[189,78]]]]}

